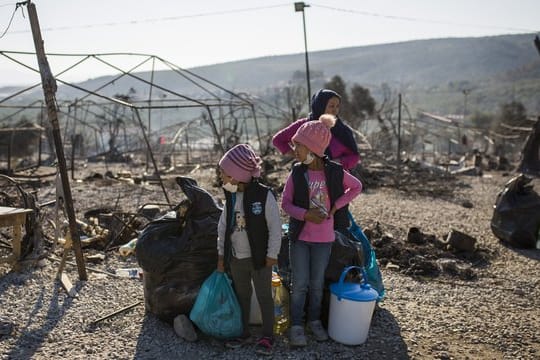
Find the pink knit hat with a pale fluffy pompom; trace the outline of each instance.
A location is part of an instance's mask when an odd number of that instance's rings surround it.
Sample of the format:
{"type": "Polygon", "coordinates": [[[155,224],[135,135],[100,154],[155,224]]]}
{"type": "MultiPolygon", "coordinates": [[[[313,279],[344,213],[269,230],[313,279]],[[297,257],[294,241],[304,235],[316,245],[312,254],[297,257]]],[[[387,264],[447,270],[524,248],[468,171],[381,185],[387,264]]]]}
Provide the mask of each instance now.
{"type": "Polygon", "coordinates": [[[305,145],[312,153],[319,157],[324,156],[324,151],[330,144],[332,133],[330,128],[336,123],[334,115],[321,115],[319,120],[307,121],[296,130],[292,137],[293,142],[305,145]]]}

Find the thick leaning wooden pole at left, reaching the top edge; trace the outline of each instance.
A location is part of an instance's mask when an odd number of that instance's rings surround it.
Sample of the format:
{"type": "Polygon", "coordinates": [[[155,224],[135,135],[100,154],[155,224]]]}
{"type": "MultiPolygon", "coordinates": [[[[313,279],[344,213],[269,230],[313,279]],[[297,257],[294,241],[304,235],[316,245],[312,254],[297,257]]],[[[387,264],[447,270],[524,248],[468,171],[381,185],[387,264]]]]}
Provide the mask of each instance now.
{"type": "Polygon", "coordinates": [[[43,47],[43,39],[41,38],[41,30],[39,28],[39,20],[37,16],[36,6],[30,1],[28,5],[28,17],[30,19],[30,26],[32,28],[32,36],[34,38],[34,46],[36,48],[36,55],[39,64],[39,72],[41,74],[41,85],[43,87],[43,93],[45,95],[45,102],[47,104],[47,113],[49,121],[52,125],[52,132],[54,138],[54,145],[56,149],[56,157],[58,160],[58,171],[60,172],[60,178],[62,180],[62,189],[64,192],[64,206],[66,209],[67,217],[69,220],[69,232],[71,240],[73,242],[73,250],[75,251],[75,258],[77,260],[77,269],[79,272],[80,280],[87,280],[86,268],[84,265],[84,257],[81,248],[81,239],[79,237],[79,231],[77,229],[77,221],[75,218],[75,210],[73,209],[73,199],[71,197],[71,188],[69,185],[69,179],[67,174],[66,158],[64,156],[64,147],[62,145],[62,137],[60,134],[60,126],[58,124],[58,113],[56,109],[55,93],[56,93],[56,81],[52,75],[49,67],[49,62],[45,56],[45,48],[43,47]]]}

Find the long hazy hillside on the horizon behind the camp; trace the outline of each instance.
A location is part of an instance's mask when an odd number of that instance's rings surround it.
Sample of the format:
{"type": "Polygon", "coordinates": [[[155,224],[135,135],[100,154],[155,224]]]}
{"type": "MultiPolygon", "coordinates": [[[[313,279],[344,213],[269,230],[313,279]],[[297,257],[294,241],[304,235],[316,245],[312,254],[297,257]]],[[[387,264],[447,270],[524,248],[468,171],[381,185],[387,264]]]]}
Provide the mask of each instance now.
{"type": "MultiPolygon", "coordinates": [[[[401,91],[409,108],[438,113],[462,113],[464,88],[469,95],[469,112],[494,112],[504,102],[521,101],[529,113],[540,113],[540,56],[534,34],[479,38],[417,40],[394,44],[341,48],[309,54],[313,74],[312,89],[334,75],[350,87],[367,87],[377,98],[382,83],[401,91]]],[[[295,71],[305,71],[304,53],[262,57],[202,66],[190,71],[237,92],[263,94],[272,87],[285,86],[295,71]]],[[[149,73],[139,74],[149,79],[149,73]]],[[[81,83],[95,88],[113,77],[100,77],[81,83]]],[[[154,80],[178,93],[188,88],[173,80],[170,71],[159,71],[154,80]]],[[[109,95],[135,87],[133,79],[122,78],[108,88],[109,95]]],[[[69,97],[71,89],[60,88],[69,97]]],[[[0,93],[4,91],[0,89],[0,93]]]]}

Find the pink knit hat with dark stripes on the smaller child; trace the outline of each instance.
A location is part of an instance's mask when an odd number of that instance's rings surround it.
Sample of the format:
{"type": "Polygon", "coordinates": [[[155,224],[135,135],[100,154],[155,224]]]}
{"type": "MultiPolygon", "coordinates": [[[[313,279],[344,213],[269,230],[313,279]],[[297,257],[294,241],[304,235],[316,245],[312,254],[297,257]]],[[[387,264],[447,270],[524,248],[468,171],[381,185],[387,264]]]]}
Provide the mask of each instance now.
{"type": "Polygon", "coordinates": [[[243,183],[250,182],[252,177],[261,176],[261,158],[248,144],[232,147],[219,160],[219,166],[227,175],[243,183]]]}

